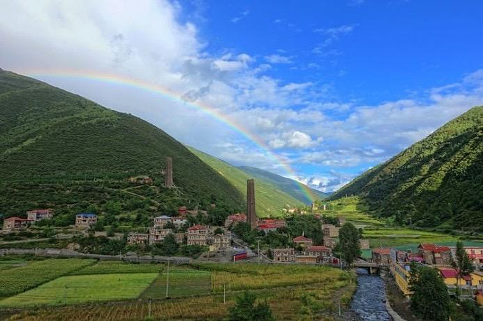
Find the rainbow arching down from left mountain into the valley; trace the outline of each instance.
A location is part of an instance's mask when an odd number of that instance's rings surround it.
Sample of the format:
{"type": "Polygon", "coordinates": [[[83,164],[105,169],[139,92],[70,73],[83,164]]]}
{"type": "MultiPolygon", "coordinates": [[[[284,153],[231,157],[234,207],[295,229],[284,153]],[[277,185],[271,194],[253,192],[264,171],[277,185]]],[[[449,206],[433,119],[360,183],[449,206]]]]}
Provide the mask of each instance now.
{"type": "MultiPolygon", "coordinates": [[[[181,103],[184,106],[189,106],[193,109],[203,111],[203,113],[208,114],[209,116],[213,117],[218,121],[221,121],[221,123],[230,127],[241,136],[255,143],[255,145],[258,146],[258,148],[260,148],[267,156],[269,156],[275,163],[279,164],[285,170],[287,175],[291,177],[297,177],[295,171],[290,167],[290,165],[285,162],[285,160],[272,152],[267,144],[262,141],[262,139],[250,133],[250,131],[246,129],[243,125],[236,123],[235,120],[230,118],[230,116],[222,114],[221,111],[209,106],[208,104],[203,104],[201,102],[188,102],[185,99],[182,99],[182,94],[180,94],[179,92],[175,92],[172,89],[162,87],[160,85],[154,85],[144,80],[123,77],[107,72],[101,73],[94,70],[24,70],[22,73],[31,77],[70,77],[85,80],[95,80],[100,82],[108,82],[115,85],[135,87],[137,89],[142,89],[147,92],[159,94],[165,99],[169,99],[172,102],[181,103]]],[[[309,187],[302,183],[298,183],[298,185],[303,195],[307,198],[307,201],[313,202],[314,197],[309,187]]]]}

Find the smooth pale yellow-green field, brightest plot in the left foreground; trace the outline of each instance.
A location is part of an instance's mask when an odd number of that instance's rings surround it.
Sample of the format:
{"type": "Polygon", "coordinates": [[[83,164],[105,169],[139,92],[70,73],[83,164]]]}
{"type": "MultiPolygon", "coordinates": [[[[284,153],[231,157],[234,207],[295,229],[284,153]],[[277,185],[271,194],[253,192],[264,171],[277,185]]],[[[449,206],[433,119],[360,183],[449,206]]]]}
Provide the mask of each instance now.
{"type": "Polygon", "coordinates": [[[137,298],[156,278],[156,273],[115,273],[91,276],[63,276],[0,301],[2,308],[62,305],[91,301],[137,298]]]}

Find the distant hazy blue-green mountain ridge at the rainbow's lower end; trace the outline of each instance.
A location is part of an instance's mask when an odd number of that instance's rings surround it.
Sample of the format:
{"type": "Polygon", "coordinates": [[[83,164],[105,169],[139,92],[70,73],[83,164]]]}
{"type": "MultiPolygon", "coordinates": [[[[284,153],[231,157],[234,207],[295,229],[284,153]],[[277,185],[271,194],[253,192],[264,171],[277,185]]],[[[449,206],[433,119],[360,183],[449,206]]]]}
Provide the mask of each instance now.
{"type": "Polygon", "coordinates": [[[250,166],[240,166],[238,167],[240,170],[243,170],[248,175],[251,175],[253,178],[259,178],[265,180],[266,182],[275,185],[283,192],[286,192],[288,195],[295,197],[300,202],[310,205],[310,203],[314,200],[322,200],[328,195],[324,192],[320,192],[318,190],[314,190],[313,188],[304,186],[304,190],[301,189],[300,183],[295,180],[291,180],[290,178],[284,178],[283,176],[270,173],[267,170],[261,170],[260,168],[254,168],[250,166]],[[309,195],[307,195],[309,194],[309,195]]]}

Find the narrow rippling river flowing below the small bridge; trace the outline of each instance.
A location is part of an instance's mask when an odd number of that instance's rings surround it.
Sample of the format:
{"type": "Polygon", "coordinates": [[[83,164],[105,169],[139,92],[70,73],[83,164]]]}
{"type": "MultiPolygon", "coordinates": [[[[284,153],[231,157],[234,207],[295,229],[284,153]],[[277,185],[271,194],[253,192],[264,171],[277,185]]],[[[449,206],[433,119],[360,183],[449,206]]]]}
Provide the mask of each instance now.
{"type": "Polygon", "coordinates": [[[357,269],[357,290],[351,303],[351,310],[363,321],[391,321],[386,310],[384,281],[372,276],[364,269],[357,269]]]}

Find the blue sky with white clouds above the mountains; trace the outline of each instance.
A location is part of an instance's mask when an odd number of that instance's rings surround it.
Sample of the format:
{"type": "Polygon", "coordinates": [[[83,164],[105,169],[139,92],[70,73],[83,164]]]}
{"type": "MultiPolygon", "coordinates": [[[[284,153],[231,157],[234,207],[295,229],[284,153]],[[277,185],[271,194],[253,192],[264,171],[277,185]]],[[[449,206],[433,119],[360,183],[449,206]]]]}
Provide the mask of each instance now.
{"type": "Polygon", "coordinates": [[[482,1],[301,3],[2,0],[0,67],[322,191],[483,104],[482,1]]]}

